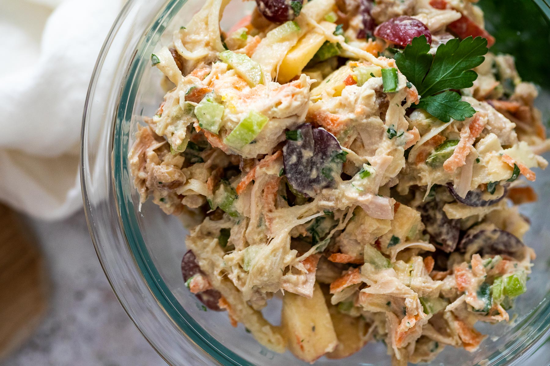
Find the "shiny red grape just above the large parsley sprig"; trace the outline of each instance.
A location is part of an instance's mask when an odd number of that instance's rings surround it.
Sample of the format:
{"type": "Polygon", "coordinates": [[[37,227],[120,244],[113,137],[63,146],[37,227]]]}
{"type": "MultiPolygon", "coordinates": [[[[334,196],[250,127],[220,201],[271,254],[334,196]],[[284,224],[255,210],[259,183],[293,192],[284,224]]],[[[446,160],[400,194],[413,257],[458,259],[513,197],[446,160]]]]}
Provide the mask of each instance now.
{"type": "Polygon", "coordinates": [[[401,15],[384,21],[375,29],[375,36],[390,43],[405,47],[412,42],[412,38],[426,36],[428,43],[432,43],[432,33],[420,20],[401,15]]]}

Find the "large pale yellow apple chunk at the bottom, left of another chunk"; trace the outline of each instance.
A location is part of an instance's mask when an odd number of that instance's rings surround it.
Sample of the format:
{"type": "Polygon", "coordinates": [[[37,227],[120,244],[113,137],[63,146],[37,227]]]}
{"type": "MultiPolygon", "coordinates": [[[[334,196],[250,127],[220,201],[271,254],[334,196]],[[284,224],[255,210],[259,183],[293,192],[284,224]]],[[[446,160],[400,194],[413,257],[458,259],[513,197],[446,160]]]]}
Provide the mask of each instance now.
{"type": "Polygon", "coordinates": [[[312,363],[323,354],[334,351],[338,345],[318,283],[313,288],[311,299],[285,292],[281,325],[289,350],[305,362],[312,363]]]}

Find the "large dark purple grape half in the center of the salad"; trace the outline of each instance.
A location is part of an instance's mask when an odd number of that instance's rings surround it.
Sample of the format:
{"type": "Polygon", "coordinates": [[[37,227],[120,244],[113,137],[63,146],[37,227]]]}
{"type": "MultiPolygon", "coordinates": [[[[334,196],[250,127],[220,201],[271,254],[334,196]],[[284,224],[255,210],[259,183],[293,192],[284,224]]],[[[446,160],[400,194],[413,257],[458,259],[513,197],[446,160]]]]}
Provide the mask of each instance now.
{"type": "Polygon", "coordinates": [[[287,143],[283,147],[284,171],[290,185],[306,196],[334,187],[345,160],[338,140],[323,128],[305,123],[287,132],[287,143]]]}

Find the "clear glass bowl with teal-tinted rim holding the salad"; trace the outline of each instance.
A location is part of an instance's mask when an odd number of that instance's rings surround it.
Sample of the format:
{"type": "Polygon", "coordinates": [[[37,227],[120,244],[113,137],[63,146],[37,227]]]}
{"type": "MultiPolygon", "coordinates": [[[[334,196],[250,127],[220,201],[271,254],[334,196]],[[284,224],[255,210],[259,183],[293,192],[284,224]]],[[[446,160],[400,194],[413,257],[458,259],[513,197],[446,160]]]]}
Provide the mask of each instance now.
{"type": "MultiPolygon", "coordinates": [[[[141,333],[171,365],[305,364],[289,352],[276,354],[259,345],[244,327],[230,326],[227,313],[204,311],[185,288],[180,261],[188,233],[178,218],[164,215],[150,201],[139,205],[128,170],[128,149],[142,116],[152,116],[162,101],[161,73],[150,54],[165,37],[185,25],[200,0],[130,0],[114,23],[97,60],[84,111],[81,182],[87,221],[103,269],[120,303],[141,333]]],[[[245,14],[254,2],[234,1],[222,28],[245,14]]],[[[499,50],[513,53],[526,78],[546,87],[550,7],[542,0],[481,0],[487,28],[499,50]],[[500,38],[500,39],[499,39],[500,38]]],[[[548,112],[550,94],[539,103],[548,112]]],[[[546,156],[547,159],[549,156],[546,156]]],[[[537,252],[527,294],[516,302],[510,324],[480,324],[489,334],[475,353],[447,347],[430,365],[484,366],[525,364],[550,335],[550,173],[538,173],[539,200],[521,207],[532,221],[525,237],[537,252]]],[[[263,313],[278,322],[277,303],[263,313]]],[[[386,347],[371,342],[340,360],[317,365],[389,365],[386,347]]],[[[535,363],[532,363],[535,364],[535,363]]]]}

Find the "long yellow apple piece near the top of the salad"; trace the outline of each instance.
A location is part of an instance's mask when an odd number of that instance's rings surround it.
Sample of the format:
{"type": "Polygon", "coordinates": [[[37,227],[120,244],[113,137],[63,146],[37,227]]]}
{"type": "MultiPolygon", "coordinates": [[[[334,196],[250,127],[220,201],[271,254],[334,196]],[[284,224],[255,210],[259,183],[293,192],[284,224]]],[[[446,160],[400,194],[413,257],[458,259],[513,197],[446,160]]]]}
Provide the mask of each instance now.
{"type": "MultiPolygon", "coordinates": [[[[328,21],[322,21],[320,25],[330,33],[334,32],[336,28],[334,23],[328,21]]],[[[281,66],[279,66],[277,80],[280,83],[286,83],[294,76],[300,75],[301,71],[326,40],[327,38],[320,29],[315,28],[307,32],[283,59],[281,66]]]]}

